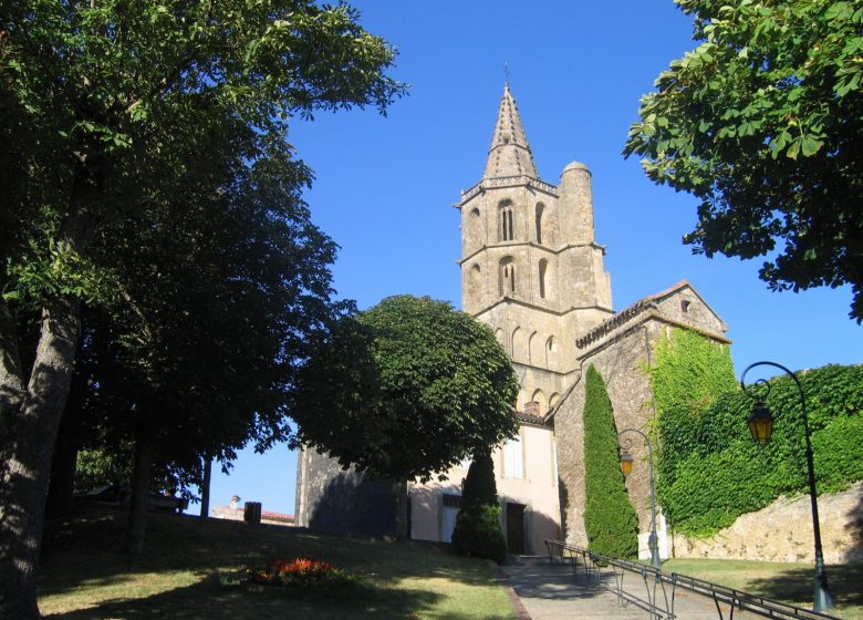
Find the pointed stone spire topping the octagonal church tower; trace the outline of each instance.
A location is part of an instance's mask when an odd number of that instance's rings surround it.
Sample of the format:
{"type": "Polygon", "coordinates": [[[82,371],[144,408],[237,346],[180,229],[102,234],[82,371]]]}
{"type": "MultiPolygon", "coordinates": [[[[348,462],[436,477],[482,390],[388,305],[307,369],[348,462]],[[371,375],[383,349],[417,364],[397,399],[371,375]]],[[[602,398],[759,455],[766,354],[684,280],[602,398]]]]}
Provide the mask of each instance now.
{"type": "Polygon", "coordinates": [[[495,124],[495,135],[491,138],[491,148],[488,152],[482,178],[521,175],[539,178],[537,166],[533,164],[533,153],[521,126],[519,108],[507,83],[503,86],[503,96],[500,99],[498,122],[495,124]]]}

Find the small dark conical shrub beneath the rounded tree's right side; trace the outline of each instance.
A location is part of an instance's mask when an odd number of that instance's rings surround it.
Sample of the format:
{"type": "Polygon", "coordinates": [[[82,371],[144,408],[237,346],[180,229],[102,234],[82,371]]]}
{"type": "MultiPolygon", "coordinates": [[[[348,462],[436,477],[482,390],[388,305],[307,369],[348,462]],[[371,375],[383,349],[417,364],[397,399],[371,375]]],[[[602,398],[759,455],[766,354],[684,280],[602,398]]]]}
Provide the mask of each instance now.
{"type": "Polygon", "coordinates": [[[498,562],[507,557],[500,529],[500,505],[495,485],[495,465],[488,450],[477,451],[465,479],[461,509],[456,518],[453,547],[466,556],[498,562]]]}

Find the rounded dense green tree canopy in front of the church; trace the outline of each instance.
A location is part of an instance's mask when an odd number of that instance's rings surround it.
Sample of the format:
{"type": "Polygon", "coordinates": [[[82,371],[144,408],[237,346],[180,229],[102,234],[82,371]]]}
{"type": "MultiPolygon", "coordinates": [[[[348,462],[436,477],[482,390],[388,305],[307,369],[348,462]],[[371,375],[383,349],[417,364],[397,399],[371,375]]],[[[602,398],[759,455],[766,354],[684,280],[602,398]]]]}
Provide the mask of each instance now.
{"type": "Polygon", "coordinates": [[[300,440],[392,480],[427,480],[518,431],[518,382],[487,326],[397,296],[313,342],[291,416],[300,440]]]}

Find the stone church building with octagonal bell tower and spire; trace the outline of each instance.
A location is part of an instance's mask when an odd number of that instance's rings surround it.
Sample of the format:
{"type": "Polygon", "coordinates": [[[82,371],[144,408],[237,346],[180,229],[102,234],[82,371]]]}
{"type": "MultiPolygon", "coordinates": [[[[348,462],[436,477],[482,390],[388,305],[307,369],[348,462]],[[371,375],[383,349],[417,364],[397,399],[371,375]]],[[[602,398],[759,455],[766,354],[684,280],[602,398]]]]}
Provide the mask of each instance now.
{"type": "MultiPolygon", "coordinates": [[[[605,380],[617,428],[646,430],[655,412],[644,366],[657,339],[686,328],[729,343],[726,324],[685,281],[614,311],[591,183],[579,162],[563,168],[558,185],[540,178],[507,84],[482,177],[456,206],[462,310],[491,327],[520,383],[519,436],[493,453],[510,552],[543,552],[547,538],[586,546],[582,378],[589,365],[605,380]]],[[[646,458],[640,443],[630,452],[636,464],[646,458]]],[[[413,485],[412,538],[449,541],[464,465],[447,473],[448,482],[413,485]]],[[[640,555],[648,556],[646,467],[636,465],[626,484],[638,515],[640,555]]],[[[394,524],[395,505],[379,486],[304,451],[298,525],[386,534],[381,527],[394,524]]]]}

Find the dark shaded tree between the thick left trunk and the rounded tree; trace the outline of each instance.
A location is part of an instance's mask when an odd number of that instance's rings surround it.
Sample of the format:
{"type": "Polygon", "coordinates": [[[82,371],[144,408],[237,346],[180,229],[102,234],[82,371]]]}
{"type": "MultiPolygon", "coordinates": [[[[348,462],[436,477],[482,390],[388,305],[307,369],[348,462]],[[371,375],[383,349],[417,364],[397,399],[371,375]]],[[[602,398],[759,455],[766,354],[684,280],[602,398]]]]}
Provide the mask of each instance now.
{"type": "Polygon", "coordinates": [[[114,256],[128,282],[129,303],[87,314],[77,365],[94,392],[95,446],[134,443],[145,468],[134,489],[135,552],[150,465],[171,486],[199,484],[202,458],[229,462],[249,440],[263,451],[288,438],[294,356],[310,330],[352,307],[330,302],[335,245],[310,223],[297,188],[273,187],[258,167],[231,176],[183,209],[146,209],[149,225],[106,227],[92,248],[114,256]]]}

